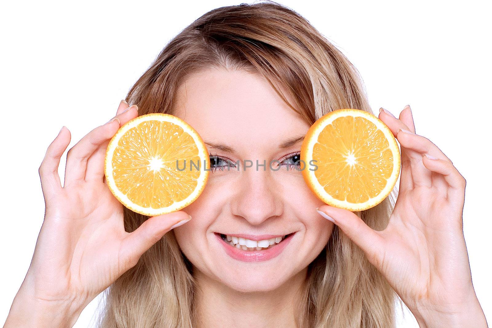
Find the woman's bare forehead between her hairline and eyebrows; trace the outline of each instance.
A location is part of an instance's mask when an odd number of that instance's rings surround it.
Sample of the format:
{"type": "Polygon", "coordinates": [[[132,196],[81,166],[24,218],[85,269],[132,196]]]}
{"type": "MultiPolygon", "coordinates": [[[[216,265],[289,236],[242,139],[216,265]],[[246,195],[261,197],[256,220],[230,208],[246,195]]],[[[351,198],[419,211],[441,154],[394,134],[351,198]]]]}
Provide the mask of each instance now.
{"type": "MultiPolygon", "coordinates": [[[[287,98],[290,103],[292,99],[287,98]]],[[[210,68],[180,86],[173,115],[184,119],[206,141],[240,136],[245,142],[277,141],[307,132],[309,125],[269,82],[243,70],[210,68]]]]}

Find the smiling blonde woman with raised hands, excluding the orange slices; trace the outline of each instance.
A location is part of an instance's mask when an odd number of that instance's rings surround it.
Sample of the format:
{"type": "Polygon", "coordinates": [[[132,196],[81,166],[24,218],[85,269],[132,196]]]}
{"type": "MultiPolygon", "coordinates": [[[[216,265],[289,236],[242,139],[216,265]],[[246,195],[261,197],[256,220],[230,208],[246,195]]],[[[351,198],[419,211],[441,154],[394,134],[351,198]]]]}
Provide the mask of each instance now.
{"type": "Polygon", "coordinates": [[[371,112],[357,70],[300,15],[274,2],[206,13],[69,149],[63,187],[69,131],[48,147],[44,223],[5,327],[72,326],[107,287],[101,327],[394,327],[397,294],[421,327],[487,327],[462,234],[465,179],[415,134],[409,106],[379,113],[401,145],[396,204],[324,205],[286,169],[339,108],[371,112]],[[186,120],[216,156],[193,204],[151,218],[103,177],[111,137],[148,113],[186,120]],[[238,160],[285,169],[224,169],[238,160]],[[276,244],[231,253],[240,238],[276,244]]]}

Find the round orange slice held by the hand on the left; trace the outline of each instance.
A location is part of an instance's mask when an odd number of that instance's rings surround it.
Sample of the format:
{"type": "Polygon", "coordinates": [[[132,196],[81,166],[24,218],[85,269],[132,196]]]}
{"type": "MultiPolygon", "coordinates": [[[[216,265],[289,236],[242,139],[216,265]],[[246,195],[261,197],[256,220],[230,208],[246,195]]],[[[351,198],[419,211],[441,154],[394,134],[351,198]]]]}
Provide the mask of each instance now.
{"type": "Polygon", "coordinates": [[[184,120],[147,114],[126,122],[106,149],[109,189],[128,209],[155,216],[183,209],[203,191],[207,147],[184,120]]]}

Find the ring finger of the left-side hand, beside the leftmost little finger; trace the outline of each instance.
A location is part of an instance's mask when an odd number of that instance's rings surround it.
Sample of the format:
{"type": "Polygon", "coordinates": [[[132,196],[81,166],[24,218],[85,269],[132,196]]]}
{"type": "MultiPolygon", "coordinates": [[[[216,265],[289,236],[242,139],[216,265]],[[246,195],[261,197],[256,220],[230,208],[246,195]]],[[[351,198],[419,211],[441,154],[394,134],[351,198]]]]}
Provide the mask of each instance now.
{"type": "Polygon", "coordinates": [[[68,150],[64,186],[84,180],[89,157],[104,141],[111,139],[119,128],[118,118],[111,119],[106,124],[93,129],[68,150]]]}

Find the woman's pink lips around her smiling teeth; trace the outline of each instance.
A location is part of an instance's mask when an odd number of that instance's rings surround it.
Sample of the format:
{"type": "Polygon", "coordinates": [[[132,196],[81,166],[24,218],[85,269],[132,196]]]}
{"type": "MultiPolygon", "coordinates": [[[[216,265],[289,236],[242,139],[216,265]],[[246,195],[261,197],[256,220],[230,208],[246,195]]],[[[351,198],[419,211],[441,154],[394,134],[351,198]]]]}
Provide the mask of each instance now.
{"type": "MultiPolygon", "coordinates": [[[[224,250],[227,253],[227,255],[229,255],[233,259],[243,261],[243,262],[260,262],[260,261],[267,261],[267,260],[273,259],[278,254],[280,254],[283,251],[283,249],[285,248],[285,246],[287,246],[289,241],[292,239],[292,236],[294,236],[294,234],[286,237],[285,239],[280,241],[278,244],[275,244],[275,246],[273,246],[272,248],[262,249],[259,251],[245,251],[243,249],[238,249],[236,247],[232,247],[230,244],[226,243],[220,237],[219,234],[215,234],[215,236],[217,237],[219,242],[224,246],[224,250]]],[[[235,236],[243,237],[243,236],[247,236],[247,235],[240,235],[240,236],[235,235],[235,236]]],[[[256,237],[258,237],[258,236],[256,236],[256,237]]],[[[261,236],[261,237],[263,238],[263,236],[261,236]]],[[[274,238],[274,237],[275,236],[270,237],[270,238],[274,238]]],[[[282,237],[282,236],[277,236],[277,237],[282,237]]],[[[270,239],[270,238],[264,238],[264,239],[270,239]]],[[[259,240],[264,240],[264,239],[259,239],[259,240]]],[[[251,239],[251,240],[255,240],[255,239],[251,239]]]]}

